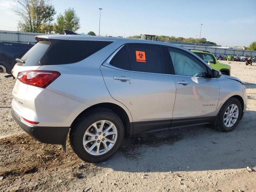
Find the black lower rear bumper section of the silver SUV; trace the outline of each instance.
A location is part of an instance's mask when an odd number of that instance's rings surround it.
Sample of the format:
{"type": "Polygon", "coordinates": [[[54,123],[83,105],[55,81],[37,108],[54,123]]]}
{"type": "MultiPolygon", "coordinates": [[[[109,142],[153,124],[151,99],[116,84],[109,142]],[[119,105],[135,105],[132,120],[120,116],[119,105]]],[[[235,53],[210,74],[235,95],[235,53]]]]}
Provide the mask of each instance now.
{"type": "Polygon", "coordinates": [[[18,125],[30,136],[42,143],[66,144],[69,127],[39,127],[24,124],[12,109],[12,117],[18,125]]]}

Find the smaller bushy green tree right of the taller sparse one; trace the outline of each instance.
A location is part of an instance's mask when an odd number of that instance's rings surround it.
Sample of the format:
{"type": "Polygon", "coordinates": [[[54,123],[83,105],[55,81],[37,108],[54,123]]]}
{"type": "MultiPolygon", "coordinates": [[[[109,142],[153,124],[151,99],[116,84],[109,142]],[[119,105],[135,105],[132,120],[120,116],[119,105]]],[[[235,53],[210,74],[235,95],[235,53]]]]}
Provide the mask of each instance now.
{"type": "Polygon", "coordinates": [[[57,16],[57,22],[54,23],[53,30],[55,33],[61,33],[63,30],[75,32],[80,28],[80,18],[76,15],[74,8],[68,8],[64,14],[57,16]]]}

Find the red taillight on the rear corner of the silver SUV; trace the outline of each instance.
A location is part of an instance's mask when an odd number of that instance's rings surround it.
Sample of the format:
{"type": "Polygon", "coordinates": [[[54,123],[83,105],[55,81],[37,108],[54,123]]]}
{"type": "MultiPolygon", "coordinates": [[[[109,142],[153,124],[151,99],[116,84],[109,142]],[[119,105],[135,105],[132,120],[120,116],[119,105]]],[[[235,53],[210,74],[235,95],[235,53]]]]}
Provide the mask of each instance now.
{"type": "Polygon", "coordinates": [[[18,73],[17,79],[24,84],[46,88],[60,76],[58,71],[30,70],[18,73]]]}

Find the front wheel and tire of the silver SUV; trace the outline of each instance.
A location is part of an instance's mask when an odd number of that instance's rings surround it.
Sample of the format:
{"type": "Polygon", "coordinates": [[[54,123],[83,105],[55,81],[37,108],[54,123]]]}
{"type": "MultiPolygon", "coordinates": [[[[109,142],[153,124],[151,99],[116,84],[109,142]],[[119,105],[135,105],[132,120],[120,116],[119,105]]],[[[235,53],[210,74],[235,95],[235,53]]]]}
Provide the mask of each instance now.
{"type": "Polygon", "coordinates": [[[230,98],[223,104],[218,113],[216,127],[221,132],[230,132],[237,126],[241,116],[242,106],[240,101],[236,98],[230,98]]]}

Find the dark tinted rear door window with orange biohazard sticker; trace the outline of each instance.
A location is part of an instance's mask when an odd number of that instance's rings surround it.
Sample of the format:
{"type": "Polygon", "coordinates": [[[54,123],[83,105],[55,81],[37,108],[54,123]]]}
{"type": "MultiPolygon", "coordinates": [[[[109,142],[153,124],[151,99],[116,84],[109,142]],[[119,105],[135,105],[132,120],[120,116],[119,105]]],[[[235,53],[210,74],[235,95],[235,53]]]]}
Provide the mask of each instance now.
{"type": "Polygon", "coordinates": [[[160,46],[128,44],[130,68],[132,71],[165,73],[160,46]]]}

